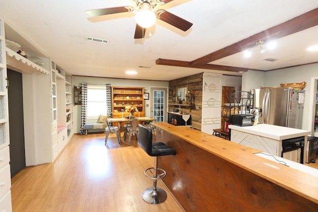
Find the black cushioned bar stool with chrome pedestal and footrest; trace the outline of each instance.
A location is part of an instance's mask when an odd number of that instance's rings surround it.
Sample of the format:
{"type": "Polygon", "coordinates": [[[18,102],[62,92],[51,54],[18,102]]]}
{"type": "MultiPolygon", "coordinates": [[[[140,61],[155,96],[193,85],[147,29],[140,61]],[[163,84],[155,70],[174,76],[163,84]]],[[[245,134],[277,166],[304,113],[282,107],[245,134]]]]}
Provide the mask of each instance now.
{"type": "Polygon", "coordinates": [[[153,143],[152,130],[145,128],[139,124],[138,145],[142,147],[145,152],[154,157],[154,167],[145,170],[145,175],[154,180],[153,187],[147,188],[142,193],[143,200],[151,205],[158,205],[167,199],[166,192],[157,187],[157,180],[165,177],[166,172],[158,168],[158,157],[163,155],[174,155],[176,151],[162,142],[153,143]]]}

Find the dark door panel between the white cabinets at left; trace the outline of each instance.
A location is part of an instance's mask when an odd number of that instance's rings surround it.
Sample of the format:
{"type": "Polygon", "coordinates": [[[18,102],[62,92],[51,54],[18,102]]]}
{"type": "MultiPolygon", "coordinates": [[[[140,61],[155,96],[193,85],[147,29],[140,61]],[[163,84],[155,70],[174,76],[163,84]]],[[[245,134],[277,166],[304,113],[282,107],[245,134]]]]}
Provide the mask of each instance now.
{"type": "Polygon", "coordinates": [[[7,70],[11,178],[25,167],[22,74],[7,70]]]}

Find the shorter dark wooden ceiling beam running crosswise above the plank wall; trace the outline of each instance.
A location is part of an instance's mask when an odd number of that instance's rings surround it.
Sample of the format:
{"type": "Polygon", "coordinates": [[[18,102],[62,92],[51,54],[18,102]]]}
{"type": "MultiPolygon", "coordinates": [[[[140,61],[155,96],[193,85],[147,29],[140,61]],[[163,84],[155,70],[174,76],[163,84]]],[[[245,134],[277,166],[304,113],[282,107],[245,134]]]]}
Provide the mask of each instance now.
{"type": "Polygon", "coordinates": [[[192,66],[190,62],[186,61],[176,61],[176,60],[166,60],[166,59],[157,59],[157,65],[165,65],[165,66],[177,66],[177,67],[187,67],[187,68],[196,68],[196,69],[209,69],[209,70],[219,70],[219,71],[247,71],[246,68],[240,67],[231,67],[231,66],[220,66],[213,64],[204,64],[200,66],[192,66]]]}

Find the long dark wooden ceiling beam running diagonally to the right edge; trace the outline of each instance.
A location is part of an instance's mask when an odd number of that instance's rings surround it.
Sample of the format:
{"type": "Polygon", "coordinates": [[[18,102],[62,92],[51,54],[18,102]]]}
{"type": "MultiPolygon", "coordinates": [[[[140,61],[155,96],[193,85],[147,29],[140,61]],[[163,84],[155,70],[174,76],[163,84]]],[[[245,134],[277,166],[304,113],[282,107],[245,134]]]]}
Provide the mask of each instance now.
{"type": "MultiPolygon", "coordinates": [[[[208,64],[213,61],[234,55],[246,49],[256,46],[256,42],[262,40],[264,42],[282,38],[296,32],[314,27],[318,25],[318,8],[306,12],[300,16],[290,19],[284,23],[266,29],[235,44],[227,46],[209,55],[203,56],[191,62],[192,67],[208,64]]],[[[187,62],[188,63],[188,62],[187,62]]]]}

